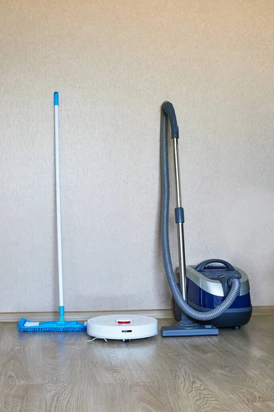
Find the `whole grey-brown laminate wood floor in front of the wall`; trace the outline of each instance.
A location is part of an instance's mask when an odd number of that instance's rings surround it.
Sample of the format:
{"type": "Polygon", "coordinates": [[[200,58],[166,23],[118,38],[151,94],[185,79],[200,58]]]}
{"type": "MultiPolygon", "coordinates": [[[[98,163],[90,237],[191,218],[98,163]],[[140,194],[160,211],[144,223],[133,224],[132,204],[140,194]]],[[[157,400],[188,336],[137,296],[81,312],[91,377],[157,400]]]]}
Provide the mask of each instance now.
{"type": "Polygon", "coordinates": [[[274,411],[273,321],[129,343],[0,323],[0,412],[274,411]]]}

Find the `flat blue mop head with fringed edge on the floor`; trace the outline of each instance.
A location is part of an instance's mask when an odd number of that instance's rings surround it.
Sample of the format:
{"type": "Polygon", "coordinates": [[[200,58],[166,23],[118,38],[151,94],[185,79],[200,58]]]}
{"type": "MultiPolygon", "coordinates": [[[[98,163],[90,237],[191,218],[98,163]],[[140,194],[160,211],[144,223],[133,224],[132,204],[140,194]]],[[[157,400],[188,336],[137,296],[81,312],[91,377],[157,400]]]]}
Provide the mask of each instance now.
{"type": "Polygon", "coordinates": [[[17,330],[21,332],[86,332],[86,325],[77,321],[32,322],[22,318],[17,330]]]}

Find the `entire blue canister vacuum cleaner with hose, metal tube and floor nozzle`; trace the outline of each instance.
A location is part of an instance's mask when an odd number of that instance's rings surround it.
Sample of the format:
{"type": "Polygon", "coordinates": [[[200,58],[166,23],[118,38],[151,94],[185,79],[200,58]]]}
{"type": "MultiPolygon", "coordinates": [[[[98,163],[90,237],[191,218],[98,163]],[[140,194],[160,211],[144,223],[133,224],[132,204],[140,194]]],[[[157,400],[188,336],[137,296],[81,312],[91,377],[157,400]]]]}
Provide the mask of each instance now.
{"type": "Polygon", "coordinates": [[[162,327],[162,336],[216,335],[219,334],[218,328],[238,329],[249,322],[252,313],[249,280],[244,271],[225,260],[210,259],[196,266],[186,266],[178,139],[179,128],[175,110],[170,102],[164,102],[160,126],[162,254],[166,277],[174,299],[175,319],[178,322],[176,325],[162,327]],[[171,124],[175,160],[175,222],[179,252],[177,277],[173,271],[169,248],[168,121],[171,124]]]}

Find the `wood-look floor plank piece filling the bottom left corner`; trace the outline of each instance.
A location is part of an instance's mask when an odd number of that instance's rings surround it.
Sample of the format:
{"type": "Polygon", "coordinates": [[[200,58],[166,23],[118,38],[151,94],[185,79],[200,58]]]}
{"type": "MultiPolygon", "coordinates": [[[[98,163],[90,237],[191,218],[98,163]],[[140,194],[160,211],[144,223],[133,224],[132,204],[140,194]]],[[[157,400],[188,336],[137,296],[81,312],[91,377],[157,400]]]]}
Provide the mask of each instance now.
{"type": "Polygon", "coordinates": [[[0,387],[1,412],[45,412],[43,385],[0,387]]]}

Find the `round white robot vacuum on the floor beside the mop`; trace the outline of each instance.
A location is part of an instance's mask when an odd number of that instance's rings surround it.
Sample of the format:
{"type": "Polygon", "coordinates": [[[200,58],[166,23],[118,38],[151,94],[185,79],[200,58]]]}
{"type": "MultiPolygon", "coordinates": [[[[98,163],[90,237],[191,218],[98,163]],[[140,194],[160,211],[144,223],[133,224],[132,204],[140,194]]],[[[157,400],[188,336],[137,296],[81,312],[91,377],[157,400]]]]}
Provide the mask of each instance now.
{"type": "Polygon", "coordinates": [[[158,321],[137,314],[112,314],[88,319],[86,332],[94,338],[119,339],[126,342],[158,334],[158,321]]]}

